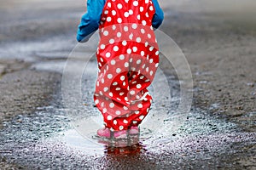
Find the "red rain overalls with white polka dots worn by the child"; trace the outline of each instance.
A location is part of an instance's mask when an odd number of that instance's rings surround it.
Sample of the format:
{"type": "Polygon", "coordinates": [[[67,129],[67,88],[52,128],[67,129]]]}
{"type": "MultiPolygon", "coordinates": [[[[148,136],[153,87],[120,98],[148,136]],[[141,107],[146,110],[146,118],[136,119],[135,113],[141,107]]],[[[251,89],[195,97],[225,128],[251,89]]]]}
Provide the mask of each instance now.
{"type": "Polygon", "coordinates": [[[151,0],[107,0],[103,8],[94,100],[111,130],[138,126],[148,114],[159,65],[153,15],[151,0]]]}

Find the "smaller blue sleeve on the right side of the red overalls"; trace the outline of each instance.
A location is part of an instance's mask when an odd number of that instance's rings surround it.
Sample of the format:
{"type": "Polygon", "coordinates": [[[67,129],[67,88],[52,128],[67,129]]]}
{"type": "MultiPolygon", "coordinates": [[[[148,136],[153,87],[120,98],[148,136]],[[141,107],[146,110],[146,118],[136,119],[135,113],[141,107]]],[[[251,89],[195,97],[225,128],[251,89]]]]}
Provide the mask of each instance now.
{"type": "Polygon", "coordinates": [[[154,4],[154,8],[155,8],[155,14],[153,16],[152,26],[154,28],[158,28],[164,20],[164,12],[160,8],[160,5],[157,0],[152,0],[152,3],[154,4]]]}

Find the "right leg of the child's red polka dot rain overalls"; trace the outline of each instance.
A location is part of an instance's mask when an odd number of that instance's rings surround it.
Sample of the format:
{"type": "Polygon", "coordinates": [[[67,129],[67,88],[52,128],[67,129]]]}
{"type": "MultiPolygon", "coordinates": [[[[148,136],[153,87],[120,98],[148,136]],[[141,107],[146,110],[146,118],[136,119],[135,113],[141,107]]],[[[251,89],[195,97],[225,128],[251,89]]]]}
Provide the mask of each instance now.
{"type": "MultiPolygon", "coordinates": [[[[148,50],[149,51],[149,50],[148,50]]],[[[134,90],[131,98],[131,126],[138,126],[148,115],[148,111],[152,104],[152,97],[148,93],[148,87],[154,80],[154,75],[159,63],[159,55],[154,48],[147,56],[132,56],[131,71],[129,75],[129,87],[134,90]]]]}

